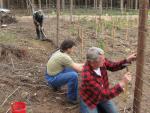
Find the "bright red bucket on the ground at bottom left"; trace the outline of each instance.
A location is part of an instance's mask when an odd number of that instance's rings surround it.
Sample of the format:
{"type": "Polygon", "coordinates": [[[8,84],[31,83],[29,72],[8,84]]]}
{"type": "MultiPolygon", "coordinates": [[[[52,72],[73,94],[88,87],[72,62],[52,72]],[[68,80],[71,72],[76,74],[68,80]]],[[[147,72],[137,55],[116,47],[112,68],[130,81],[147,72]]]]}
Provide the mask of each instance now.
{"type": "Polygon", "coordinates": [[[14,102],[11,104],[12,113],[26,113],[26,103],[25,102],[14,102]]]}

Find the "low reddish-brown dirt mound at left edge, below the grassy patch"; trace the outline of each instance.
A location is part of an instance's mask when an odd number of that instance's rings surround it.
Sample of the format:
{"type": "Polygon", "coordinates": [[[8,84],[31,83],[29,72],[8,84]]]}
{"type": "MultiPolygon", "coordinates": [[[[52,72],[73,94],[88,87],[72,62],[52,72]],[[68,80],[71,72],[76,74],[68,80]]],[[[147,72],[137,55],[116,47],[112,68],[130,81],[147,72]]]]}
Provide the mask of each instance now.
{"type": "Polygon", "coordinates": [[[18,48],[12,45],[0,44],[0,60],[7,59],[9,55],[21,59],[27,55],[27,52],[25,49],[18,48]]]}

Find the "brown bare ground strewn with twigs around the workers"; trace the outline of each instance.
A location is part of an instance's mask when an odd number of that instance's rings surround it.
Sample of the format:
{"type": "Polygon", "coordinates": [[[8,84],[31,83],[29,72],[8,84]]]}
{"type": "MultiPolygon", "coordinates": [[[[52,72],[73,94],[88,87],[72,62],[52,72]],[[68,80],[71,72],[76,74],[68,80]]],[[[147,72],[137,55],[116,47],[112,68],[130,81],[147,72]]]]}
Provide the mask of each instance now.
{"type": "MultiPolygon", "coordinates": [[[[44,80],[49,54],[56,48],[56,18],[46,18],[44,21],[45,33],[52,42],[35,40],[35,28],[31,17],[18,17],[17,20],[17,23],[0,28],[0,113],[10,113],[11,103],[15,101],[26,102],[27,113],[79,113],[79,105],[70,105],[65,101],[67,87],[54,92],[44,80]]],[[[78,26],[78,23],[73,23],[73,26],[78,26]]],[[[76,39],[76,52],[72,57],[77,62],[83,62],[86,50],[91,46],[99,46],[99,38],[95,38],[96,34],[93,30],[86,29],[79,33],[83,38],[81,43],[81,37],[78,37],[78,33],[73,30],[77,29],[72,28],[66,20],[61,20],[59,43],[70,36],[76,39]]],[[[137,28],[128,31],[128,39],[125,39],[125,33],[126,30],[117,30],[115,40],[111,38],[111,31],[106,30],[104,36],[100,36],[105,42],[106,57],[114,60],[122,59],[136,51],[137,28]]],[[[148,107],[150,102],[147,101],[150,95],[149,43],[150,38],[147,38],[141,113],[150,111],[148,107]]],[[[121,94],[114,99],[120,113],[132,112],[135,68],[135,63],[129,67],[133,74],[133,81],[126,94],[121,94]]],[[[116,84],[125,72],[126,70],[109,72],[111,85],[116,84]]]]}

